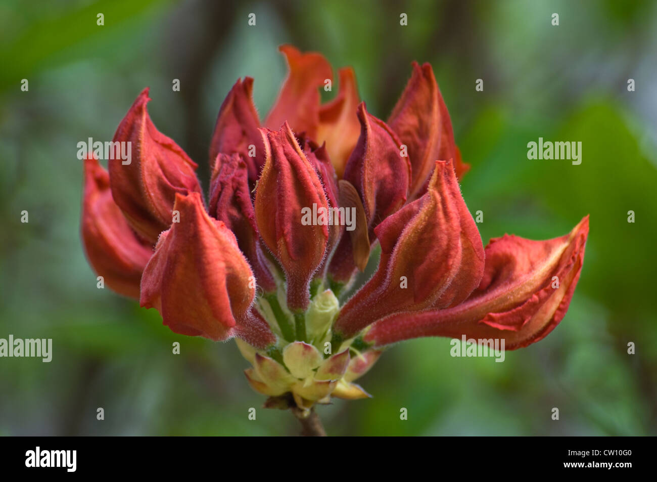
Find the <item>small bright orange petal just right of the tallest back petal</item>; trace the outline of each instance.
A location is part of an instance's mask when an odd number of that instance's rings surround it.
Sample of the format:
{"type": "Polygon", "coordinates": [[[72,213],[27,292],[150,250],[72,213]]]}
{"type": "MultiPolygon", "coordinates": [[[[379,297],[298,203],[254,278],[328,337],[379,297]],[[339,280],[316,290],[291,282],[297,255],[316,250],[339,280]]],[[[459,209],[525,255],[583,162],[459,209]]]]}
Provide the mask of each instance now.
{"type": "Polygon", "coordinates": [[[356,116],[360,102],[353,68],[341,68],[340,90],[335,99],[319,109],[317,141],[326,141],[338,178],[342,178],[351,151],[358,142],[361,125],[356,116]]]}

